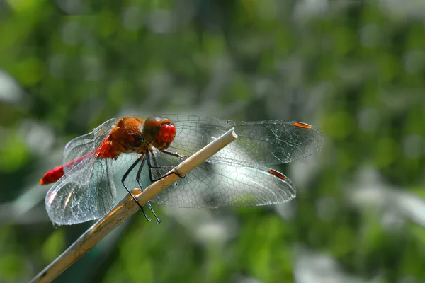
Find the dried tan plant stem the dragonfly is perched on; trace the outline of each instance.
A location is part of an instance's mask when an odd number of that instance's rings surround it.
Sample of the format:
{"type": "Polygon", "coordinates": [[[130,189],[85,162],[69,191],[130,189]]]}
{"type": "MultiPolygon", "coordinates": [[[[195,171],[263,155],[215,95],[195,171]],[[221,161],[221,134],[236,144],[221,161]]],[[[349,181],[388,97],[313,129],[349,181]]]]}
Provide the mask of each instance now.
{"type": "MultiPolygon", "coordinates": [[[[234,133],[234,129],[229,129],[228,132],[223,134],[218,139],[210,142],[207,146],[200,151],[196,152],[185,161],[176,166],[176,170],[180,175],[186,175],[188,172],[196,168],[201,163],[205,162],[212,155],[223,149],[227,144],[237,139],[237,135],[234,133]]],[[[170,171],[171,172],[171,171],[170,171]]],[[[179,176],[176,174],[168,175],[166,178],[159,180],[143,192],[140,189],[132,190],[132,194],[135,195],[137,201],[140,204],[145,204],[151,200],[162,190],[169,185],[179,180],[179,176]]],[[[108,233],[111,233],[113,229],[118,227],[123,221],[127,220],[132,214],[137,212],[140,207],[137,206],[136,202],[128,195],[124,197],[106,216],[99,219],[96,224],[91,226],[84,234],[82,234],[77,241],[75,241],[67,250],[57,257],[50,265],[45,267],[38,275],[36,275],[31,282],[51,282],[64,270],[76,262],[81,256],[87,251],[96,246],[108,233]]]]}

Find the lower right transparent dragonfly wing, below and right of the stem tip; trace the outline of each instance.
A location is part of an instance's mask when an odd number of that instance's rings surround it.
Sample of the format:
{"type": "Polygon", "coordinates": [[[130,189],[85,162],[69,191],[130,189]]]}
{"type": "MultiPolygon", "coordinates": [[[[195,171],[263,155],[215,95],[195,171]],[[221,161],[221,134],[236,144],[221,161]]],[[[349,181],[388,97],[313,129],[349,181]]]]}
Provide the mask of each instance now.
{"type": "MultiPolygon", "coordinates": [[[[173,156],[159,152],[155,155],[159,165],[179,163],[173,156]]],[[[168,171],[154,170],[154,175],[168,171]]],[[[149,185],[147,175],[142,178],[142,183],[149,185]]],[[[287,202],[295,194],[295,185],[271,169],[205,162],[152,198],[152,202],[187,208],[245,207],[287,202]]]]}

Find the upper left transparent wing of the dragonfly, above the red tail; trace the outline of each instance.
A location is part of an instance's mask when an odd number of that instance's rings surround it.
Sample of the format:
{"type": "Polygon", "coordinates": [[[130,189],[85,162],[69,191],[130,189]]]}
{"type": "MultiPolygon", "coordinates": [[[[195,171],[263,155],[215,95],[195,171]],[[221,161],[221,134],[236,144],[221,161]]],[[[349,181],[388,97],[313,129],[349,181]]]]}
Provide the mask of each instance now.
{"type": "Polygon", "coordinates": [[[69,141],[64,149],[64,173],[67,173],[79,163],[87,162],[87,157],[89,157],[87,155],[96,151],[96,149],[101,146],[103,140],[108,137],[109,132],[117,122],[118,119],[112,118],[103,122],[102,125],[96,127],[96,129],[89,132],[89,134],[84,134],[81,137],[76,137],[69,141]],[[72,161],[77,162],[70,163],[72,161]]]}

